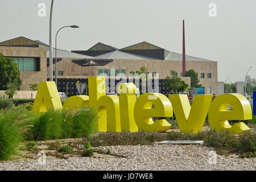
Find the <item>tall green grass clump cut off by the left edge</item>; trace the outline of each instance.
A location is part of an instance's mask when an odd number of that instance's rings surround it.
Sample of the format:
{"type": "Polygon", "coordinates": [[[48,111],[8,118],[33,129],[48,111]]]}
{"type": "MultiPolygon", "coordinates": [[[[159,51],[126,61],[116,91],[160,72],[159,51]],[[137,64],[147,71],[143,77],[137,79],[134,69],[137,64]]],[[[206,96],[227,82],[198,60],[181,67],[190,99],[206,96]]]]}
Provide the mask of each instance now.
{"type": "Polygon", "coordinates": [[[24,110],[0,111],[0,160],[9,159],[17,154],[19,144],[23,142],[30,121],[24,110]]]}

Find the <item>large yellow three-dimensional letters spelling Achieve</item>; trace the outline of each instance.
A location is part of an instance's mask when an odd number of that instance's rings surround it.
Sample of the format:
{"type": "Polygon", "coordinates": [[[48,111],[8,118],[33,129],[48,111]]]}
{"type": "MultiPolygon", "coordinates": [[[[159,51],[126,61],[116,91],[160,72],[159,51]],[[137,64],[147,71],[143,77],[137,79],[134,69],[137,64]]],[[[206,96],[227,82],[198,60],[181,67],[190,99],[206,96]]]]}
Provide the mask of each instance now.
{"type": "Polygon", "coordinates": [[[173,113],[182,133],[199,133],[207,115],[214,131],[240,134],[250,130],[243,122],[234,125],[228,122],[252,118],[250,103],[241,94],[222,94],[213,101],[210,94],[196,95],[191,106],[185,94],[170,94],[167,98],[160,93],[144,93],[137,98],[136,86],[132,83],[119,84],[119,96],[106,96],[105,77],[89,77],[88,80],[89,96],[69,97],[64,105],[55,82],[40,82],[32,111],[42,113],[90,106],[97,111],[97,130],[101,132],[167,131],[171,125],[165,118],[173,117],[173,113]]]}

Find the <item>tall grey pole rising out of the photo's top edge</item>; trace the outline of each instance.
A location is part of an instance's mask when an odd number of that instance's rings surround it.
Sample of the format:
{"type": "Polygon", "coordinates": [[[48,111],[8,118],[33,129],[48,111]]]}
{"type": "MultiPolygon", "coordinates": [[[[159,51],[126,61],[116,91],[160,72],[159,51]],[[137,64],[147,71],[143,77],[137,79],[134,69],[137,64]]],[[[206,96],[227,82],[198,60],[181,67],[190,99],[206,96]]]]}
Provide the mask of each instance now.
{"type": "Polygon", "coordinates": [[[52,9],[53,1],[51,3],[51,11],[49,17],[49,81],[53,81],[53,66],[52,66],[52,9]]]}

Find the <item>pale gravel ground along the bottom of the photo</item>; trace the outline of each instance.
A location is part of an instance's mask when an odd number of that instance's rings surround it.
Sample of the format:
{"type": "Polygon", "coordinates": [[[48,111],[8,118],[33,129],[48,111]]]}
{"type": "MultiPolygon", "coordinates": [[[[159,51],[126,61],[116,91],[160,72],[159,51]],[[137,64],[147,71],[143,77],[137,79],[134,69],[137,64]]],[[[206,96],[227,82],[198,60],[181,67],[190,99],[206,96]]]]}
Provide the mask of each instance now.
{"type": "Polygon", "coordinates": [[[256,158],[217,155],[216,164],[209,164],[210,148],[199,145],[110,146],[93,149],[106,151],[107,148],[112,151],[112,157],[47,159],[46,164],[38,164],[35,159],[16,160],[0,163],[0,170],[256,170],[256,158]]]}

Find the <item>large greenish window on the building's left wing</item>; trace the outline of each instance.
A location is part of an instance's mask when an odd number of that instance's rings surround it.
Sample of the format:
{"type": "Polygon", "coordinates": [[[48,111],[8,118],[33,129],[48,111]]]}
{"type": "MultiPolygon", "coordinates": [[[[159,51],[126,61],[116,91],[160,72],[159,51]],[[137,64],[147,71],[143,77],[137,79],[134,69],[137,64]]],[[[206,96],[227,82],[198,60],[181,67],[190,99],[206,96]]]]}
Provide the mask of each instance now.
{"type": "Polygon", "coordinates": [[[18,65],[19,71],[39,71],[40,61],[36,57],[14,57],[14,63],[18,65]]]}

